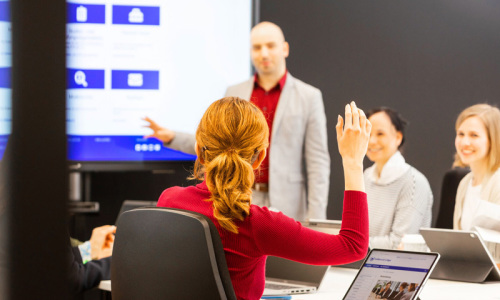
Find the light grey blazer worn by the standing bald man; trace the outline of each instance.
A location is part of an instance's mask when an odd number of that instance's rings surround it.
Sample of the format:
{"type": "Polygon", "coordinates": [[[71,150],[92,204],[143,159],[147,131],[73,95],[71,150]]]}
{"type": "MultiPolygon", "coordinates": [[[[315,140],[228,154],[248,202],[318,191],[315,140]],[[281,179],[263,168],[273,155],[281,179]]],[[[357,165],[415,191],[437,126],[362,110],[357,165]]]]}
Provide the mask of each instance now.
{"type": "MultiPolygon", "coordinates": [[[[231,86],[227,96],[250,100],[254,77],[231,86]]],[[[167,147],[194,154],[193,135],[176,133],[167,147]]],[[[326,219],[330,155],[321,91],[290,73],[281,91],[269,151],[271,207],[302,221],[326,219]]]]}

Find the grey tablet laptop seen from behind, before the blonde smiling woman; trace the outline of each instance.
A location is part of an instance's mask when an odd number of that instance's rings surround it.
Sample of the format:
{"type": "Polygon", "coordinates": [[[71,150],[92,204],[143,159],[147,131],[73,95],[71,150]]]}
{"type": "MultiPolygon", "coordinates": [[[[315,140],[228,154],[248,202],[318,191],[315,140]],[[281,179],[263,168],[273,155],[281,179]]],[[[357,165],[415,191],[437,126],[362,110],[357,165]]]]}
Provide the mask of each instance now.
{"type": "Polygon", "coordinates": [[[483,282],[500,280],[500,271],[475,231],[421,228],[420,234],[441,260],[431,278],[483,282]]]}

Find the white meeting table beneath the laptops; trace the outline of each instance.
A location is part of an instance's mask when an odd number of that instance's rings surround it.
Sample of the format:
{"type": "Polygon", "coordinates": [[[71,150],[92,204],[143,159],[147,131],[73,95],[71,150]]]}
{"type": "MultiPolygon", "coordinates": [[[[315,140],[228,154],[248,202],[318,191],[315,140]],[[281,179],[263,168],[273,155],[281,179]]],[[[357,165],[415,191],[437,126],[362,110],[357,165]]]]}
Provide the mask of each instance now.
{"type": "MultiPolygon", "coordinates": [[[[332,267],[319,291],[314,294],[294,295],[294,300],[337,300],[342,299],[358,270],[332,267]]],[[[111,291],[111,281],[103,280],[99,289],[111,291]]],[[[422,300],[500,300],[500,281],[467,283],[429,279],[422,293],[422,300]]]]}

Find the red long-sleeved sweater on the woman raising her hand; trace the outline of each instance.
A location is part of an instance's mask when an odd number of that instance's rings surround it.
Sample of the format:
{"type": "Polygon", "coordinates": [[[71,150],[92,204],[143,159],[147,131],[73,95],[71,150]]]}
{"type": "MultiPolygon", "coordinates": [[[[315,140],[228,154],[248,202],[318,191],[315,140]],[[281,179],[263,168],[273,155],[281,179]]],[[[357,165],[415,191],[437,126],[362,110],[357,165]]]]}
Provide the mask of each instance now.
{"type": "Polygon", "coordinates": [[[250,215],[236,221],[239,233],[223,229],[213,215],[205,182],[166,189],[158,206],[181,208],[209,217],[217,227],[227,266],[238,299],[260,299],[264,292],[267,255],[315,265],[337,265],[365,257],[368,249],[366,194],[344,192],[342,229],[329,235],[303,227],[299,222],[267,207],[252,205],[250,215]]]}

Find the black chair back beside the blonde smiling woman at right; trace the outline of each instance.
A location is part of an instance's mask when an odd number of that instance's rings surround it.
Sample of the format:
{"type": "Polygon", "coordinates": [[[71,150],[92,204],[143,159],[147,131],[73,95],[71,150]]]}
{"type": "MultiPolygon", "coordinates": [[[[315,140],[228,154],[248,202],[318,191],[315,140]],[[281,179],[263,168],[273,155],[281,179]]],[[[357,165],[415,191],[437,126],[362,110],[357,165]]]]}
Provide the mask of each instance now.
{"type": "Polygon", "coordinates": [[[453,213],[458,185],[469,172],[470,170],[466,168],[453,168],[444,174],[436,228],[453,229],[453,213]]]}

